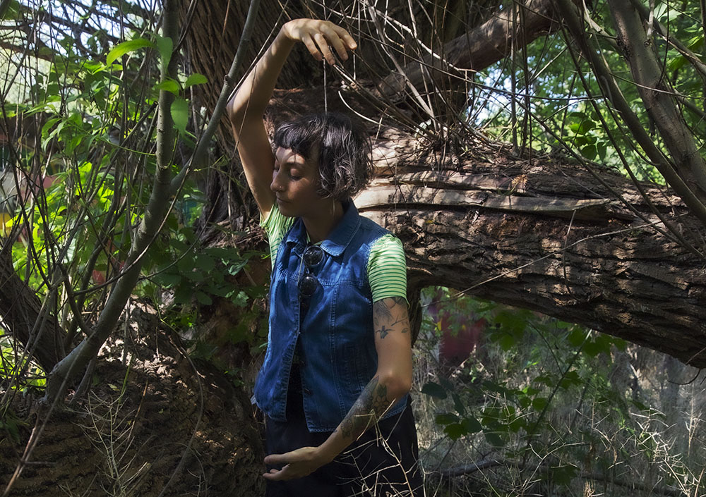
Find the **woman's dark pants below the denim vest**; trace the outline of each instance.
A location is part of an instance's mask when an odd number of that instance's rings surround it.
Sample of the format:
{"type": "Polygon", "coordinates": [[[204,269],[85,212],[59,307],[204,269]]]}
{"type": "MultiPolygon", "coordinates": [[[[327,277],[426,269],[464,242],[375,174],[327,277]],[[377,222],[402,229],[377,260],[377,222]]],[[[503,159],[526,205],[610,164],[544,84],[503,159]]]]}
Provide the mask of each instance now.
{"type": "MultiPolygon", "coordinates": [[[[265,417],[268,454],[316,447],[331,434],[330,431],[310,433],[307,429],[297,376],[294,371],[289,384],[287,422],[265,417]]],[[[330,464],[304,478],[268,481],[265,496],[384,497],[389,493],[395,497],[422,497],[424,481],[418,460],[417,429],[408,401],[399,415],[382,419],[330,464]]]]}

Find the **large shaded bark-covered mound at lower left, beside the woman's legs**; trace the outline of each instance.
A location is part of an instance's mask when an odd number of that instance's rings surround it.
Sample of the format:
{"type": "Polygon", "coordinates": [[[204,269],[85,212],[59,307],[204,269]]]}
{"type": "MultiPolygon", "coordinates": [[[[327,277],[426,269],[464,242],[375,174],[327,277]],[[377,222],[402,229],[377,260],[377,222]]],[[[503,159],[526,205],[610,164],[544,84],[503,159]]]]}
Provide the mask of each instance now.
{"type": "MultiPolygon", "coordinates": [[[[193,364],[153,309],[133,306],[128,323],[102,349],[89,401],[52,415],[11,495],[261,495],[263,454],[246,395],[193,364]]],[[[46,410],[18,400],[13,418],[19,436],[0,433],[1,489],[46,410]]]]}

